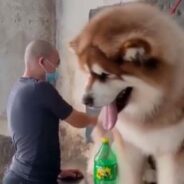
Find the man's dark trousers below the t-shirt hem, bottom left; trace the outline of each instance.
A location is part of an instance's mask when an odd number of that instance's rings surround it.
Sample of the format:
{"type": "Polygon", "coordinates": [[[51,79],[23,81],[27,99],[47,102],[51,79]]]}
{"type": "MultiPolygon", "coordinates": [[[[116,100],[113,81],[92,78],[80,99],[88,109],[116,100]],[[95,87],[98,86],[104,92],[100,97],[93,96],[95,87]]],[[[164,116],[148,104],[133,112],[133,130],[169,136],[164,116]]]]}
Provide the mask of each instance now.
{"type": "Polygon", "coordinates": [[[57,181],[33,182],[18,176],[13,171],[7,171],[3,178],[3,184],[57,184],[57,181]]]}

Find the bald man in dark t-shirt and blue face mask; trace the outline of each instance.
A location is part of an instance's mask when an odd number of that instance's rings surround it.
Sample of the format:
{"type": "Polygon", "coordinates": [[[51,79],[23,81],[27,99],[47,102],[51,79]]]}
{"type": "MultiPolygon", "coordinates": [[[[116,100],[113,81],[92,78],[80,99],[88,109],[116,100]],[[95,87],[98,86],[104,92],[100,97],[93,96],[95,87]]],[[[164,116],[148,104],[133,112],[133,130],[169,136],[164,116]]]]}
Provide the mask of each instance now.
{"type": "MultiPolygon", "coordinates": [[[[36,40],[27,46],[24,74],[14,85],[7,105],[15,154],[3,184],[56,184],[60,173],[59,120],[77,128],[97,122],[72,108],[50,84],[56,80],[59,64],[59,54],[50,43],[36,40]]],[[[67,172],[71,176],[77,173],[67,172]]]]}

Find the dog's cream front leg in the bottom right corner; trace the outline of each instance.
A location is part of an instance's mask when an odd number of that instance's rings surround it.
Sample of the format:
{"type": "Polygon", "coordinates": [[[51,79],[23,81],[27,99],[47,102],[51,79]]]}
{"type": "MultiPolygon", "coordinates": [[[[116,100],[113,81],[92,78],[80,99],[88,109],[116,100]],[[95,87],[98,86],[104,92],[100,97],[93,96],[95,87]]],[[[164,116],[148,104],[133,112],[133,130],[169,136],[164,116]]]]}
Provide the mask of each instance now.
{"type": "Polygon", "coordinates": [[[184,153],[161,155],[156,161],[158,184],[184,184],[184,153]]]}

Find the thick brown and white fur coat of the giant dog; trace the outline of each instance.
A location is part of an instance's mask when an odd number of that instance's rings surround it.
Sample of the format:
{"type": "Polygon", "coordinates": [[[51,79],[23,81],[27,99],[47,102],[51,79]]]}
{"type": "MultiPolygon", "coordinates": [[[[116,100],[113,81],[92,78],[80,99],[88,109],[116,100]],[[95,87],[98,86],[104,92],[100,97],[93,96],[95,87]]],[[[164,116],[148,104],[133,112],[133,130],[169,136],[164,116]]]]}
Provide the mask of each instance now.
{"type": "MultiPolygon", "coordinates": [[[[158,8],[130,3],[98,13],[71,46],[90,74],[92,105],[107,105],[132,88],[111,131],[119,184],[142,183],[147,155],[156,161],[159,184],[183,184],[183,30],[158,8]]],[[[104,134],[99,125],[94,153],[104,134]]]]}

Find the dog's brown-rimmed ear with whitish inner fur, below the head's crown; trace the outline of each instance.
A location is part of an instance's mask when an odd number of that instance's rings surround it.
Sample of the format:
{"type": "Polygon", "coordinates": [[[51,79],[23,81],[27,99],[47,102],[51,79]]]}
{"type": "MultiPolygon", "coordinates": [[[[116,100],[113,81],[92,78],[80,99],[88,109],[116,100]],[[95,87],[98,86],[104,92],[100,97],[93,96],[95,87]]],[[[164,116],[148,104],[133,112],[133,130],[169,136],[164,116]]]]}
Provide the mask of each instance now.
{"type": "Polygon", "coordinates": [[[154,69],[157,66],[158,59],[152,56],[151,44],[140,38],[127,40],[121,48],[122,62],[128,61],[136,66],[144,66],[148,69],[154,69]]]}

